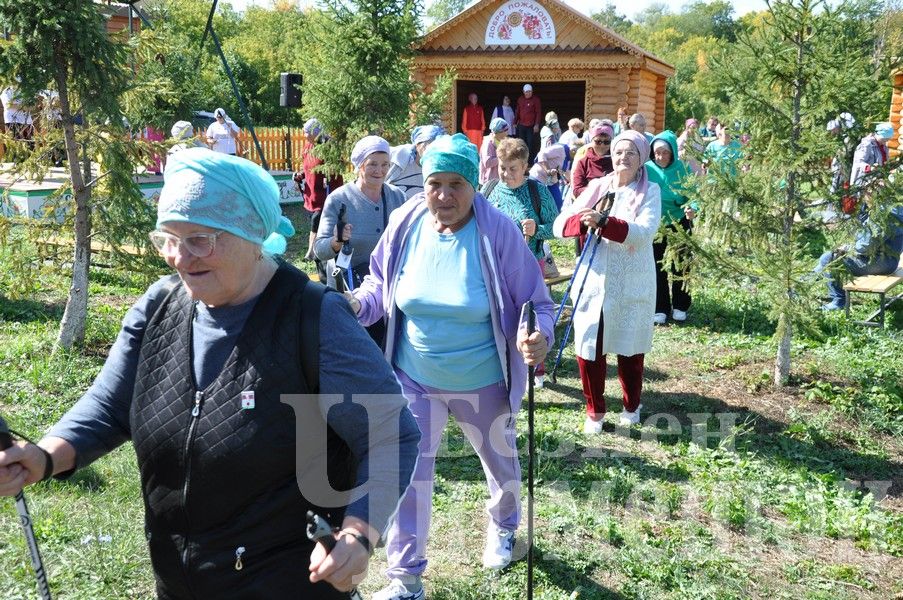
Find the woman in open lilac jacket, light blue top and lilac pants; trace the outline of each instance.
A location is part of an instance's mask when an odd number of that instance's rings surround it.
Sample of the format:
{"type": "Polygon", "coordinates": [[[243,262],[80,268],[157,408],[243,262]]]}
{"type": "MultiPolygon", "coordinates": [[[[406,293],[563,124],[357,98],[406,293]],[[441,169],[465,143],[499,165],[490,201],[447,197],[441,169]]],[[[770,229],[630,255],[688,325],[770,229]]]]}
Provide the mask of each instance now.
{"type": "Polygon", "coordinates": [[[515,416],[527,364],[553,340],[553,304],[536,261],[510,218],[476,193],[476,146],[440,136],[423,156],[425,191],[396,209],[349,294],[364,325],[386,317],[386,358],[422,432],[412,485],[387,537],[390,584],[374,600],[423,598],[436,450],[449,413],[483,464],[490,516],[483,564],[511,560],[520,520],[515,416]],[[527,336],[521,307],[534,303],[527,336]],[[525,364],[527,363],[527,364],[525,364]]]}

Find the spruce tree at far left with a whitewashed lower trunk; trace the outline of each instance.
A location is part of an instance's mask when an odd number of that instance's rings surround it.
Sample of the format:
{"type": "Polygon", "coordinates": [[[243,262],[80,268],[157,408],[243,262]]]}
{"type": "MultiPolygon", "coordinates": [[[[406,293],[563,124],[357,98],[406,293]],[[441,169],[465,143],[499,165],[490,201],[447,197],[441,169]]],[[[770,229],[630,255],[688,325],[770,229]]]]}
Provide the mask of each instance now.
{"type": "Polygon", "coordinates": [[[65,9],[55,0],[0,0],[0,27],[10,34],[0,45],[0,83],[14,85],[25,99],[50,89],[59,97],[61,132],[45,127],[33,144],[20,144],[11,173],[40,180],[52,164],[49,149],[64,141],[75,249],[57,348],[84,341],[92,212],[101,222],[140,229],[145,240],[152,213],[132,179],[133,165],[147,164],[151,155],[128,141],[120,106],[132,76],[128,41],[107,33],[100,8],[91,0],[71,0],[65,9]],[[95,174],[91,158],[98,155],[104,168],[95,174]],[[92,191],[100,186],[104,198],[94,206],[92,191]]]}

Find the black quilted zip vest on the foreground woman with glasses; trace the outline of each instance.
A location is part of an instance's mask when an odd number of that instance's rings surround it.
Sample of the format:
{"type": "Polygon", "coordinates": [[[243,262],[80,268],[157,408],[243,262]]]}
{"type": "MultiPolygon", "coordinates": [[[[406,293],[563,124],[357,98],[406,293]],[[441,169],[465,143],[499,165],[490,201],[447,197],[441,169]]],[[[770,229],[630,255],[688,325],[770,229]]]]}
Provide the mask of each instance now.
{"type": "MultiPolygon", "coordinates": [[[[147,324],[130,419],[161,598],[348,597],[307,581],[306,511],[333,523],[342,511],[312,507],[298,490],[295,411],[279,398],[307,391],[298,334],[306,284],[280,265],[204,390],[192,371],[194,303],[181,284],[147,324]],[[254,408],[242,410],[246,391],[254,408]]],[[[315,405],[305,412],[322,421],[315,405]]]]}

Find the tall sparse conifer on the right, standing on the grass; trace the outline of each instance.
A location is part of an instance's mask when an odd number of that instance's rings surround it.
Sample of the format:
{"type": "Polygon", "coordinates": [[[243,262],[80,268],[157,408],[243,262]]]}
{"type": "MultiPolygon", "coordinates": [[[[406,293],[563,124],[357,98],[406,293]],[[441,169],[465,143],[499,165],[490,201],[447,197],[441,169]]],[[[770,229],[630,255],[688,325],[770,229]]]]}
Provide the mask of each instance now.
{"type": "Polygon", "coordinates": [[[777,324],[776,386],[788,381],[793,333],[814,323],[823,285],[811,274],[822,248],[810,241],[833,235],[806,205],[829,198],[839,212],[825,158],[843,140],[831,138],[825,123],[849,110],[860,123],[886,118],[892,65],[875,54],[880,10],[848,1],[836,8],[822,0],[769,2],[762,26],[740,32],[712,64],[731,99],[735,135],[750,139],[737,164],[713,164],[696,180],[703,219],[684,243],[716,276],[746,276],[767,299],[777,324]]]}

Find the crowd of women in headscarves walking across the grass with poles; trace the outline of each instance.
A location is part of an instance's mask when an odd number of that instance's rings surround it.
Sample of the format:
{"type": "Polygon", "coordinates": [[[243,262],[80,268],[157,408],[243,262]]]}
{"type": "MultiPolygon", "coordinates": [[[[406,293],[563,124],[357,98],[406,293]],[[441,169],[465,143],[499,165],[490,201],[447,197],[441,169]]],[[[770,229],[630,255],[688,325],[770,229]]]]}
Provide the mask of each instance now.
{"type": "Polygon", "coordinates": [[[547,242],[582,248],[583,430],[602,432],[608,354],[620,423],[637,424],[653,324],[686,319],[691,302],[659,235],[696,216],[680,184],[703,167],[684,157],[709,134],[706,161],[737,154],[715,120],[699,131],[690,119],[680,136],[653,136],[626,111],[585,131],[571,119],[562,133],[554,113],[545,123],[533,161],[504,110],[468,135],[426,125],[396,147],[366,136],[343,183],[318,171],[312,150],[329,137],[308,121],[307,256],[342,294],[280,257],[294,228],[268,173],[230,152],[172,152],[150,238],[176,275],[129,310],[94,384],[47,435],[0,452],[0,494],[131,441],[159,597],[348,598],[384,544],[389,582],[373,598],[419,600],[453,415],[486,476],[483,564],[507,566],[516,417],[528,368],[541,385],[555,340],[547,242]],[[331,552],[305,535],[308,510],[335,527],[331,552]]]}

